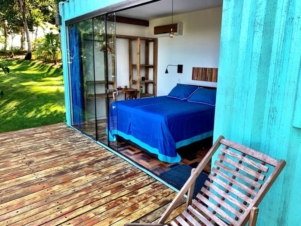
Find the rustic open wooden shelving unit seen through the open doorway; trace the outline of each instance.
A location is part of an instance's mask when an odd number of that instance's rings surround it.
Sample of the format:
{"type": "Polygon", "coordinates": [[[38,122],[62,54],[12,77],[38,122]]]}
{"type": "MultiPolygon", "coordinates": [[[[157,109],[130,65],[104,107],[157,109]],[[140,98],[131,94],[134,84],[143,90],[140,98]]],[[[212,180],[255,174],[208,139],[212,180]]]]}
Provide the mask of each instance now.
{"type": "Polygon", "coordinates": [[[157,95],[157,50],[158,50],[158,39],[157,38],[147,38],[147,37],[137,37],[137,36],[125,36],[116,35],[116,38],[123,38],[129,40],[129,88],[133,88],[136,85],[137,98],[151,97],[157,95]],[[141,64],[141,40],[145,41],[145,56],[144,64],[141,64]],[[132,45],[133,41],[136,41],[136,64],[133,64],[133,53],[132,45]],[[153,42],[153,64],[150,64],[149,51],[150,43],[153,42]],[[144,67],[145,70],[145,81],[141,80],[140,69],[144,67]],[[153,79],[149,80],[149,68],[153,68],[153,79]],[[133,80],[133,69],[137,71],[137,79],[133,80]],[[140,95],[140,85],[145,84],[144,93],[140,95]],[[153,85],[152,93],[150,91],[149,84],[153,85]]]}

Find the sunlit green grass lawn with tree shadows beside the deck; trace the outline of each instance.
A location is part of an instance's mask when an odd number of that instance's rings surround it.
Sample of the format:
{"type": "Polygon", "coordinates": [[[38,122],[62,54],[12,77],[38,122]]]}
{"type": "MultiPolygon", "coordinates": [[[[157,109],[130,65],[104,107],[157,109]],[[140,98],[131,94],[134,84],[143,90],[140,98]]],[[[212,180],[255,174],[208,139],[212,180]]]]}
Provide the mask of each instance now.
{"type": "Polygon", "coordinates": [[[3,60],[0,133],[64,122],[63,70],[25,60],[3,60]]]}

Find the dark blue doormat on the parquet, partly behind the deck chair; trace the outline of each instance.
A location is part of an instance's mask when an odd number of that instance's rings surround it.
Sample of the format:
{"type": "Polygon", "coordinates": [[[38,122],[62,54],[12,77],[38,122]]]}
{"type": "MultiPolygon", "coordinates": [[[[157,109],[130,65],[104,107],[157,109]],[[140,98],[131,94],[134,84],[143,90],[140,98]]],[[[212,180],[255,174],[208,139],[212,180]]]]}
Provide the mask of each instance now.
{"type": "MultiPolygon", "coordinates": [[[[163,173],[160,173],[160,176],[163,177],[165,180],[169,181],[171,184],[181,189],[185,184],[185,182],[190,177],[191,169],[192,169],[191,166],[181,164],[163,173]]],[[[200,193],[206,180],[209,181],[208,175],[201,172],[200,175],[197,177],[197,180],[195,181],[194,193],[193,193],[194,197],[197,196],[197,193],[200,193]]]]}

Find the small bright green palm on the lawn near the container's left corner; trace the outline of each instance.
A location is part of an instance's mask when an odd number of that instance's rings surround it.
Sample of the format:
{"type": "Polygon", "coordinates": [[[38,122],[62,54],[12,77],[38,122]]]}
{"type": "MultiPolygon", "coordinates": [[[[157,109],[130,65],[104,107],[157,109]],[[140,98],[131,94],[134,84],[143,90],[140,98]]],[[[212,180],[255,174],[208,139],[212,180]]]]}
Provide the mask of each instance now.
{"type": "Polygon", "coordinates": [[[45,61],[47,58],[52,58],[54,64],[57,64],[57,60],[61,58],[60,40],[57,34],[49,32],[45,34],[43,42],[38,45],[38,49],[34,52],[37,57],[43,56],[45,61]]]}

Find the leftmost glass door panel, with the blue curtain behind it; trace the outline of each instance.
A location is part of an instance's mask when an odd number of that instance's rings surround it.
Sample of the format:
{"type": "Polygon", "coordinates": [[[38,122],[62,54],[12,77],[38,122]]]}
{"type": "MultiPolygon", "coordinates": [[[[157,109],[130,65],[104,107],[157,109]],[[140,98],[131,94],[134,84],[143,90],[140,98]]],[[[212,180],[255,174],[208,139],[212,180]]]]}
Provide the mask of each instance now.
{"type": "Polygon", "coordinates": [[[68,26],[72,125],[96,139],[92,19],[68,26]]]}

